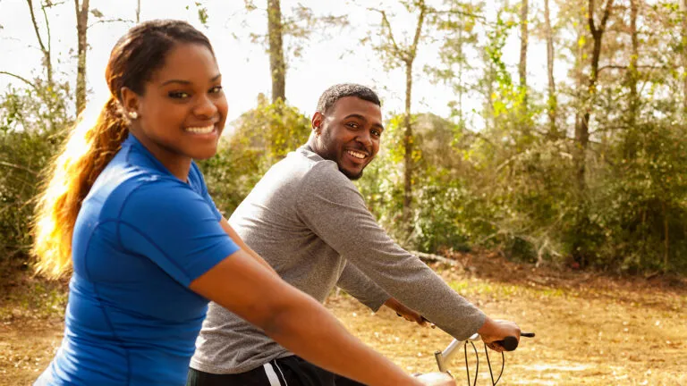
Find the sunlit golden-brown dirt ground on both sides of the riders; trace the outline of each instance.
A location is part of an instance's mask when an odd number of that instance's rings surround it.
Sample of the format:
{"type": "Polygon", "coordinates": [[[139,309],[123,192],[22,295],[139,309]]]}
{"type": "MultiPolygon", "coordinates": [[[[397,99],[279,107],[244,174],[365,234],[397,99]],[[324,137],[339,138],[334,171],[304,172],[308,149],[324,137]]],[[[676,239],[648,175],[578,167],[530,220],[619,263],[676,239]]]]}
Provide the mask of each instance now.
{"type": "MultiPolygon", "coordinates": [[[[495,254],[454,258],[461,265],[434,266],[446,282],[488,315],[537,333],[505,354],[499,385],[687,384],[684,279],[535,268],[495,254]]],[[[30,384],[62,338],[64,286],[23,279],[0,289],[0,385],[30,384]]],[[[434,351],[451,341],[445,332],[405,322],[387,309],[373,315],[345,294],[329,298],[327,307],[409,373],[435,371],[434,351]]],[[[477,347],[477,384],[491,384],[484,348],[477,347]]],[[[498,373],[500,356],[490,359],[498,373]]],[[[467,383],[464,360],[461,350],[450,365],[459,385],[467,383]]],[[[474,354],[470,363],[474,379],[474,354]]]]}

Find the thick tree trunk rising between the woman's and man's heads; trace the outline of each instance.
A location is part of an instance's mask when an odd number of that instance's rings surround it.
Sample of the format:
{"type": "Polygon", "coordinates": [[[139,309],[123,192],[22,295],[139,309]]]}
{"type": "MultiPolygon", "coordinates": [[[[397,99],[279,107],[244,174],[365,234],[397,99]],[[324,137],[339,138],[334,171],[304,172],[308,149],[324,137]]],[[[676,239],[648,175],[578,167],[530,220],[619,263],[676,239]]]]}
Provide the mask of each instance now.
{"type": "Polygon", "coordinates": [[[272,103],[286,100],[286,63],[284,62],[282,10],[280,0],[267,0],[269,71],[272,77],[272,103]]]}

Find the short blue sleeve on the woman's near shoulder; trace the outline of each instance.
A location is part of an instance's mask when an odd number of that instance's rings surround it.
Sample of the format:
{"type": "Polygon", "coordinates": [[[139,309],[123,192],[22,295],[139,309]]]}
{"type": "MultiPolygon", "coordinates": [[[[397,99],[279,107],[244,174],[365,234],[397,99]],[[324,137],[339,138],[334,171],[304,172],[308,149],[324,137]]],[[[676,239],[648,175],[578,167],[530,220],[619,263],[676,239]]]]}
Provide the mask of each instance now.
{"type": "Polygon", "coordinates": [[[133,190],[117,223],[123,248],[146,256],[187,286],[239,247],[205,197],[186,184],[157,180],[133,190]]]}

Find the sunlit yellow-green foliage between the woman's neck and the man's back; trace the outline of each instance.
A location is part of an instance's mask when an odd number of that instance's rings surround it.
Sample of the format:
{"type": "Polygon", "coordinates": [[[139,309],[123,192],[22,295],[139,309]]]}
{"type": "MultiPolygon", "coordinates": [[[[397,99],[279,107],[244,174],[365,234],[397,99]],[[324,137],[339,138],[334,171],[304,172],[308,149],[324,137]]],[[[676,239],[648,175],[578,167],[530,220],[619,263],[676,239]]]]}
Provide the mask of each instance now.
{"type": "Polygon", "coordinates": [[[272,164],[305,144],[310,120],[278,100],[269,104],[259,96],[258,106],[234,123],[235,131],[223,138],[217,155],[200,163],[215,204],[231,214],[272,164]]]}

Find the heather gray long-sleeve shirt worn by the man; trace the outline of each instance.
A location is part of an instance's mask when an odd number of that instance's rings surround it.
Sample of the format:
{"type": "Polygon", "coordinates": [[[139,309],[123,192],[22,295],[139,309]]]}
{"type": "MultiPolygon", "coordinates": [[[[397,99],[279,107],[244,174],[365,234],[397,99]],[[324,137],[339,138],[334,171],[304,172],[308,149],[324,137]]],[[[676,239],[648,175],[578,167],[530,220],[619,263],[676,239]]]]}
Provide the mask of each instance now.
{"type": "MultiPolygon", "coordinates": [[[[338,285],[376,311],[394,297],[462,340],[485,315],[394,243],[335,162],[301,147],[272,166],[229,219],[284,281],[323,302],[338,285]]],[[[210,303],[191,367],[243,373],[293,355],[210,303]]]]}

